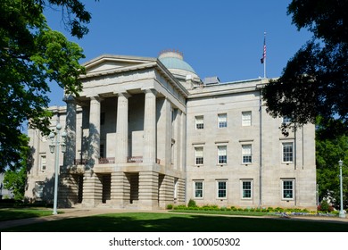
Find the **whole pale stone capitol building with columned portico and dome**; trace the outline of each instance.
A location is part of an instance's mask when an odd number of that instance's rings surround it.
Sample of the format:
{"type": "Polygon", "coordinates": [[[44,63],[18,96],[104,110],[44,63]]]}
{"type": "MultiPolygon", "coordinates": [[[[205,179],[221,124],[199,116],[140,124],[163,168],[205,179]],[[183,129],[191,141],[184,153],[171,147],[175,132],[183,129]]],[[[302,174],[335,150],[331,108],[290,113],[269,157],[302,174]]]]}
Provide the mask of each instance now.
{"type": "MultiPolygon", "coordinates": [[[[158,209],[167,204],[316,207],[314,125],[279,127],[262,104],[268,79],[200,79],[182,54],[102,55],[79,96],[51,107],[67,132],[59,206],[158,209]]],[[[29,129],[26,196],[53,199],[50,140],[29,129]]]]}

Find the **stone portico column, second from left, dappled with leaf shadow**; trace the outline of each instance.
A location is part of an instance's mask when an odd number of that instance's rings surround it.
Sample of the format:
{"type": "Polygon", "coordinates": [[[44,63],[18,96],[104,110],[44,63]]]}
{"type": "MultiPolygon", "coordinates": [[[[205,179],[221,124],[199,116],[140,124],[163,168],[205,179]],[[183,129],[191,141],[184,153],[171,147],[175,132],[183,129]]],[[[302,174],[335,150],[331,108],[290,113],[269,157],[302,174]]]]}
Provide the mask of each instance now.
{"type": "Polygon", "coordinates": [[[93,166],[99,163],[100,154],[100,103],[101,98],[91,97],[89,110],[89,148],[88,164],[93,166]]]}

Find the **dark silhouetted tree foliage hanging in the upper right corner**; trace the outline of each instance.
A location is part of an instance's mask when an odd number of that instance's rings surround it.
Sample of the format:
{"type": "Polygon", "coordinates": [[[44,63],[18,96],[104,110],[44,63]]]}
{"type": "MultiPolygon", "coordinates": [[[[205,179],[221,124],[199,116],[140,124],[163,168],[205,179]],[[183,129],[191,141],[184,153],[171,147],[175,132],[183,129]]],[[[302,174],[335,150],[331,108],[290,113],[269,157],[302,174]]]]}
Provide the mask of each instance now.
{"type": "MultiPolygon", "coordinates": [[[[348,129],[348,1],[293,0],[287,14],[313,36],[263,89],[267,111],[295,125],[315,123],[335,137],[348,129]]],[[[293,124],[293,125],[294,125],[293,124]]]]}

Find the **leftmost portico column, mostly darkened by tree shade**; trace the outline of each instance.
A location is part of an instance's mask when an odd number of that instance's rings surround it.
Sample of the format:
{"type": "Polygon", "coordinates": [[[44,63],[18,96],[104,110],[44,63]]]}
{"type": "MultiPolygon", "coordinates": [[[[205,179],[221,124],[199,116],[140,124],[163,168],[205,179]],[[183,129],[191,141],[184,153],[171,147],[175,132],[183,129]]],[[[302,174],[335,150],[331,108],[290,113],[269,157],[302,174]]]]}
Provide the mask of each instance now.
{"type": "Polygon", "coordinates": [[[64,154],[64,168],[75,164],[76,158],[76,102],[74,96],[65,96],[64,101],[67,104],[66,110],[66,152],[64,154]]]}

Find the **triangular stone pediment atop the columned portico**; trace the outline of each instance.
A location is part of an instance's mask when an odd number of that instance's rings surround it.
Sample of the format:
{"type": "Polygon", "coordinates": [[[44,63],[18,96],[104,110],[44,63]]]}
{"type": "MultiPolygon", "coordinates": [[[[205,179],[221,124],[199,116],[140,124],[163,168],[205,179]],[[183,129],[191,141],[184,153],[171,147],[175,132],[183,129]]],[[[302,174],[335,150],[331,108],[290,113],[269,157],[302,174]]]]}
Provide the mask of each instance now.
{"type": "Polygon", "coordinates": [[[145,63],[155,62],[155,58],[150,57],[135,57],[123,55],[101,55],[83,66],[86,68],[86,74],[107,73],[108,71],[115,71],[118,69],[127,70],[145,63]]]}

